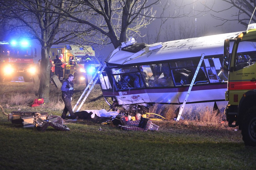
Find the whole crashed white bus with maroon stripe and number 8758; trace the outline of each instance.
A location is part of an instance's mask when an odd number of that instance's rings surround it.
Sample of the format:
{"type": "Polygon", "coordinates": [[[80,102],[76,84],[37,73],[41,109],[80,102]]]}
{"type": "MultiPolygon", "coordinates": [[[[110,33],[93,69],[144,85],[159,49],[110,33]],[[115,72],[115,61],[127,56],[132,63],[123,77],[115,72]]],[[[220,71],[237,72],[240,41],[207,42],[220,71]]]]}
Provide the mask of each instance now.
{"type": "MultiPolygon", "coordinates": [[[[160,42],[121,44],[105,60],[100,77],[103,96],[115,106],[183,103],[199,60],[203,62],[186,101],[182,116],[202,109],[224,111],[228,72],[223,70],[224,40],[238,32],[160,42]]],[[[232,43],[231,43],[232,48],[232,43]]],[[[110,103],[110,102],[109,102],[110,103]]]]}

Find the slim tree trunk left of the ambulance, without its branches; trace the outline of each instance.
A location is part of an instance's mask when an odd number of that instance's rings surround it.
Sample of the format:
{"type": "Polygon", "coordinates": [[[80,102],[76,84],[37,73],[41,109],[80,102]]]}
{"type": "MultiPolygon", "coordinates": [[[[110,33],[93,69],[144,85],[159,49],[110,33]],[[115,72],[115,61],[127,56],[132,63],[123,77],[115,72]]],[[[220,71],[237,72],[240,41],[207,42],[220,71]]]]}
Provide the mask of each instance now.
{"type": "Polygon", "coordinates": [[[49,102],[50,66],[46,47],[42,47],[41,56],[42,58],[40,67],[40,85],[38,90],[38,98],[43,98],[45,102],[49,102]]]}

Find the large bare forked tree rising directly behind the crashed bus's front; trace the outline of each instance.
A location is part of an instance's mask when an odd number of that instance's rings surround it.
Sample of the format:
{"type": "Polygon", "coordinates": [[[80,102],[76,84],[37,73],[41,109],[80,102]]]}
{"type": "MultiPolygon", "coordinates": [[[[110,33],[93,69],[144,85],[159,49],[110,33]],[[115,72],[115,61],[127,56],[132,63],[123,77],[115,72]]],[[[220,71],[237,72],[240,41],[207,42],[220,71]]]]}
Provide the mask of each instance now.
{"type": "Polygon", "coordinates": [[[79,44],[112,43],[114,48],[130,36],[143,36],[141,30],[155,19],[163,24],[168,18],[184,17],[192,11],[184,13],[183,6],[175,8],[173,0],[68,0],[66,7],[73,6],[77,6],[73,12],[62,12],[74,22],[74,33],[79,37],[76,41],[79,44]],[[154,9],[159,9],[158,16],[154,9]]]}

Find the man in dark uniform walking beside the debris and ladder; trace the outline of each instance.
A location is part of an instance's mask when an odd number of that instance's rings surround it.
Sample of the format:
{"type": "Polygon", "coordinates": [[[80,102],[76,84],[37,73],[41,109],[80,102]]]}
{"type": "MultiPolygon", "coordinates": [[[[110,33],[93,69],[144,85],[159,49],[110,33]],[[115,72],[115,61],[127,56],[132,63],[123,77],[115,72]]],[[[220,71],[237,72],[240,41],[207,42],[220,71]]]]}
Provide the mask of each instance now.
{"type": "Polygon", "coordinates": [[[74,75],[70,74],[68,78],[63,82],[61,86],[62,91],[62,100],[64,101],[65,107],[62,112],[61,118],[65,119],[67,113],[69,112],[71,119],[76,119],[76,113],[73,113],[72,106],[71,106],[71,97],[74,91],[74,83],[72,83],[74,79],[74,75]]]}

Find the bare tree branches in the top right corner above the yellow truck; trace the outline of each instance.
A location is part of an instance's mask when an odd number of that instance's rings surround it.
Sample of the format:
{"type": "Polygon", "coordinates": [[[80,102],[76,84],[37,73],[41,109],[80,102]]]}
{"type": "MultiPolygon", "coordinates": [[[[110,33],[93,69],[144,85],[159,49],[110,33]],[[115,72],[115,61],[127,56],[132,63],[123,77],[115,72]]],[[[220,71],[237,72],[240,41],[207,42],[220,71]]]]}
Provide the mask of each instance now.
{"type": "MultiPolygon", "coordinates": [[[[218,3],[214,1],[214,3],[210,6],[206,4],[208,12],[212,11],[217,13],[211,14],[212,17],[222,21],[222,24],[217,26],[224,25],[229,21],[237,21],[238,23],[247,27],[256,7],[255,0],[220,0],[218,3]],[[223,9],[223,6],[225,6],[223,5],[221,10],[214,10],[215,7],[217,8],[218,3],[220,2],[225,3],[228,6],[223,9]],[[230,15],[223,15],[224,12],[229,12],[230,15]]],[[[256,13],[254,13],[252,21],[256,23],[256,13]]]]}

